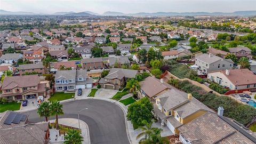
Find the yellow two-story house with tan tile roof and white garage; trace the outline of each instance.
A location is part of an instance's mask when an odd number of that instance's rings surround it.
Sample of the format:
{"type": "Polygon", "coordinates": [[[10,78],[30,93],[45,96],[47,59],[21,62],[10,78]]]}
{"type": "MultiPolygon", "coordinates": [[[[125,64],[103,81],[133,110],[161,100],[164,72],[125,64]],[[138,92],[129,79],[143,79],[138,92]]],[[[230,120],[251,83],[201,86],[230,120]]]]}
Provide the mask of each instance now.
{"type": "Polygon", "coordinates": [[[202,102],[178,89],[169,89],[155,98],[154,115],[162,126],[167,126],[174,135],[179,135],[178,128],[207,111],[213,112],[202,102]]]}

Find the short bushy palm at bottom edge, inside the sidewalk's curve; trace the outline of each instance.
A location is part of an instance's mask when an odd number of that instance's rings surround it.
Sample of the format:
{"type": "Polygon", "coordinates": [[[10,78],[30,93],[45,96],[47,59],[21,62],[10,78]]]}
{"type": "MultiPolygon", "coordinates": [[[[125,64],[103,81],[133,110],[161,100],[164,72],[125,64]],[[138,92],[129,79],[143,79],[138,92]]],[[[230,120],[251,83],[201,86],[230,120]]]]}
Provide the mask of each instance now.
{"type": "Polygon", "coordinates": [[[64,138],[65,144],[80,144],[82,141],[84,141],[83,137],[80,135],[80,132],[74,129],[69,129],[67,135],[64,138]]]}

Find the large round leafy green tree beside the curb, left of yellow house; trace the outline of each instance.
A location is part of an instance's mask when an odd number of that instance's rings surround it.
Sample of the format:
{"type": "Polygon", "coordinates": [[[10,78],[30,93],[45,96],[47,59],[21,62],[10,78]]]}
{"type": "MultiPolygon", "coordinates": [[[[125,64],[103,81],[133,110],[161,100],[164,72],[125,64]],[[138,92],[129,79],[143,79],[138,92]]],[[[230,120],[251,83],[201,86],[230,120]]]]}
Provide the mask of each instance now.
{"type": "Polygon", "coordinates": [[[153,104],[148,98],[142,98],[139,101],[132,103],[128,107],[127,119],[131,121],[134,125],[143,126],[143,120],[148,123],[151,122],[153,114],[153,104]]]}

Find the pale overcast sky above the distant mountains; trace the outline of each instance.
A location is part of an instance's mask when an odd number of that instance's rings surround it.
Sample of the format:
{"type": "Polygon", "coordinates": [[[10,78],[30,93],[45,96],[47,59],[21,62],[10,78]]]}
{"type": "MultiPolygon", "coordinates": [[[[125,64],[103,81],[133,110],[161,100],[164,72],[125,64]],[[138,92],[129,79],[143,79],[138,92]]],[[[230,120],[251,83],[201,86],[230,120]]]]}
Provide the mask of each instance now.
{"type": "Polygon", "coordinates": [[[139,1],[139,0],[0,0],[0,9],[35,13],[116,11],[138,12],[234,12],[256,10],[256,0],[139,1]]]}

